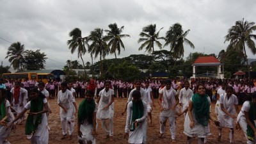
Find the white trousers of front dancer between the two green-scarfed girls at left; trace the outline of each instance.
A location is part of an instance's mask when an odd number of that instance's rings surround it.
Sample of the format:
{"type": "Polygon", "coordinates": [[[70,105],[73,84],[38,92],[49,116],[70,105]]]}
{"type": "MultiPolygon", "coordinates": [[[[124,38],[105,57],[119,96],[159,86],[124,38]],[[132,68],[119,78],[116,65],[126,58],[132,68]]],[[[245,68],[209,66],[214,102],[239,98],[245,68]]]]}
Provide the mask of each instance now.
{"type": "Polygon", "coordinates": [[[62,128],[63,135],[67,134],[67,127],[68,127],[68,134],[72,135],[72,132],[74,131],[74,127],[75,127],[74,117],[60,118],[60,120],[61,120],[61,128],[62,128]]]}

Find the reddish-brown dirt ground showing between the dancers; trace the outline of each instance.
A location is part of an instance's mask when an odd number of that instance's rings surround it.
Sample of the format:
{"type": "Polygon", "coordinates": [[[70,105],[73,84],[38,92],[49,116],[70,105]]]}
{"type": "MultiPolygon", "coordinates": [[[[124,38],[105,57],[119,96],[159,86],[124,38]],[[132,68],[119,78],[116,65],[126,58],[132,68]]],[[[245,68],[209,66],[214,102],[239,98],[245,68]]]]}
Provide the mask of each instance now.
{"type": "MultiPolygon", "coordinates": [[[[76,99],[77,107],[79,106],[79,103],[83,99],[76,99]]],[[[100,120],[97,120],[98,122],[98,129],[97,129],[97,138],[96,143],[98,144],[108,144],[108,143],[128,143],[127,140],[124,140],[124,128],[125,128],[125,120],[126,115],[122,116],[121,111],[123,111],[125,103],[127,102],[127,99],[120,99],[115,98],[115,117],[114,117],[114,140],[109,141],[108,139],[103,139],[103,132],[102,127],[100,125],[100,120]]],[[[61,143],[61,144],[69,144],[69,143],[78,143],[77,142],[77,136],[76,131],[77,127],[75,127],[75,130],[72,134],[72,140],[61,140],[62,131],[61,131],[61,125],[60,125],[60,107],[56,103],[56,99],[49,100],[49,103],[51,104],[52,114],[49,116],[49,126],[51,127],[51,131],[49,131],[49,143],[55,144],[55,143],[61,143]]],[[[152,111],[152,119],[153,119],[153,126],[148,127],[148,134],[147,134],[147,143],[148,144],[156,144],[156,143],[172,143],[170,131],[169,131],[169,125],[167,122],[167,131],[164,138],[157,138],[159,134],[159,105],[157,104],[157,99],[155,99],[156,108],[152,111]]],[[[216,118],[216,115],[213,111],[215,104],[212,104],[212,114],[216,118]]],[[[177,118],[176,122],[176,140],[177,143],[184,144],[186,143],[186,136],[183,134],[184,129],[184,116],[179,116],[177,118]]],[[[17,129],[15,133],[11,133],[8,141],[12,144],[27,144],[30,143],[30,141],[26,138],[25,130],[24,130],[25,122],[23,122],[22,125],[17,125],[17,129]]],[[[215,125],[211,124],[211,133],[212,135],[209,136],[207,143],[229,143],[229,129],[225,128],[223,129],[223,134],[221,141],[217,141],[218,137],[218,129],[215,127],[215,125]]],[[[193,138],[193,143],[197,143],[197,138],[193,138]]],[[[234,143],[241,144],[246,143],[246,139],[244,137],[243,131],[235,131],[234,132],[234,143]]]]}

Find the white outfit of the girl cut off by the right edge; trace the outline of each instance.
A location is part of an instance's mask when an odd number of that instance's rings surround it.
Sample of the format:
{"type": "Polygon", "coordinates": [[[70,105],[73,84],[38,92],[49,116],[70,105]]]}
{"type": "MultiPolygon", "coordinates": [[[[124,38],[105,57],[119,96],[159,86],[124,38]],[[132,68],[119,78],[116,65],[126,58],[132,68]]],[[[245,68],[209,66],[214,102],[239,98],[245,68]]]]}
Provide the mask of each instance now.
{"type": "Polygon", "coordinates": [[[256,140],[255,140],[255,137],[254,137],[254,140],[255,141],[250,141],[247,139],[247,122],[246,122],[246,118],[244,116],[244,111],[246,112],[249,112],[250,111],[250,101],[245,101],[242,108],[241,108],[241,111],[239,112],[238,116],[237,116],[237,122],[239,123],[241,129],[243,129],[244,131],[244,135],[245,135],[245,138],[247,140],[247,144],[255,144],[256,143],[256,140]]]}

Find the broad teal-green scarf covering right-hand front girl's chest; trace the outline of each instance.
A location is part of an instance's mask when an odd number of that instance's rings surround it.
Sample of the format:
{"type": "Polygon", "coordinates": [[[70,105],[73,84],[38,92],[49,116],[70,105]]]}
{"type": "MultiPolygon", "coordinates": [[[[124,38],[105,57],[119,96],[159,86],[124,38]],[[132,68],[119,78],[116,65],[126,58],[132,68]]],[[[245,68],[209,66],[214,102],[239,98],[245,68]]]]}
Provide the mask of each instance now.
{"type": "Polygon", "coordinates": [[[208,95],[199,95],[198,93],[192,96],[196,121],[204,126],[207,126],[209,121],[210,104],[207,97],[208,95]]]}

